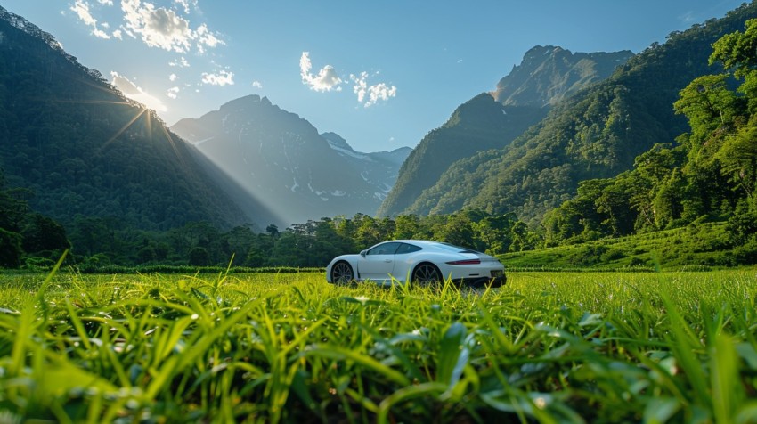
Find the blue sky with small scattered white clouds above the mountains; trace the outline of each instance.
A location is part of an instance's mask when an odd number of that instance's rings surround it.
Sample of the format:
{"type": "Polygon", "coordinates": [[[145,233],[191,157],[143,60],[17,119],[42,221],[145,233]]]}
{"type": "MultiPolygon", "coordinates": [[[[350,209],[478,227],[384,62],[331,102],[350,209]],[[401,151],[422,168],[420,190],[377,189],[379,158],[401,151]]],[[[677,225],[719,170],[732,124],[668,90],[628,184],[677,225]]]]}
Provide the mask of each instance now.
{"type": "Polygon", "coordinates": [[[639,53],[738,0],[3,0],[167,124],[267,96],[358,151],[414,147],[534,45],[639,53]]]}

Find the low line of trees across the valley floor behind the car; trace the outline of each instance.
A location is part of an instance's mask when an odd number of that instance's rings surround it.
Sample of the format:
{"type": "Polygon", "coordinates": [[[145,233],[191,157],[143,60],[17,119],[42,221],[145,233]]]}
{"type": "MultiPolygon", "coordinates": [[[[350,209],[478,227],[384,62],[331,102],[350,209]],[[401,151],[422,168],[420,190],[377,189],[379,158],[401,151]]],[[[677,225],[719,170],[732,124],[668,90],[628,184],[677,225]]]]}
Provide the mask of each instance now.
{"type": "Polygon", "coordinates": [[[446,241],[492,255],[534,249],[540,243],[517,216],[478,210],[380,219],[362,214],[324,217],[283,230],[271,224],[265,232],[250,224],[222,231],[208,222],[145,231],[115,216],[81,215],[64,228],[30,210],[24,193],[5,188],[0,179],[0,267],[50,266],[65,249],[70,249],[70,265],[87,269],[109,265],[322,267],[333,257],[391,239],[446,241]]]}

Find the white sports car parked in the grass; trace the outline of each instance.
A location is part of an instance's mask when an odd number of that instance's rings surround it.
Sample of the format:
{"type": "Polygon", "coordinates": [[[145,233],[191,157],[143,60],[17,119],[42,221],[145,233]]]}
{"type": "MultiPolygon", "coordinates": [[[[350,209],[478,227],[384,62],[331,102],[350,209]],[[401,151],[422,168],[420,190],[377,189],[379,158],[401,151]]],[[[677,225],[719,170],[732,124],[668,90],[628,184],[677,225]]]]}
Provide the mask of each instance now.
{"type": "Polygon", "coordinates": [[[326,267],[326,281],[334,284],[429,284],[447,279],[474,287],[500,287],[507,281],[496,257],[438,241],[384,241],[359,255],[335,257],[326,267]]]}

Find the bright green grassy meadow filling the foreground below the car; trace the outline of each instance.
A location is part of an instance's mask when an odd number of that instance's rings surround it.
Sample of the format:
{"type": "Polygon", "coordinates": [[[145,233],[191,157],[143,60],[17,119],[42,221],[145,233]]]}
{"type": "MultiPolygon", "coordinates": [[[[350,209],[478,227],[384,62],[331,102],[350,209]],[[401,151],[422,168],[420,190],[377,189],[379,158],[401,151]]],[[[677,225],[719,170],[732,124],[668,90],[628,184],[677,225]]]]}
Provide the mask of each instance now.
{"type": "Polygon", "coordinates": [[[0,275],[0,420],[757,422],[757,269],[0,275]]]}

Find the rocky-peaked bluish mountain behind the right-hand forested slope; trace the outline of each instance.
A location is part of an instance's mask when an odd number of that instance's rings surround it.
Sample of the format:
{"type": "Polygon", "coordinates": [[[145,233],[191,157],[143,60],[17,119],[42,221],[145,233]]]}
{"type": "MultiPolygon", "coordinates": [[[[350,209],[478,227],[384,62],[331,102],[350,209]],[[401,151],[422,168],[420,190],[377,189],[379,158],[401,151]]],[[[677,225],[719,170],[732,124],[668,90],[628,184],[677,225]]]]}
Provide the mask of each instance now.
{"type": "Polygon", "coordinates": [[[453,162],[504,148],[544,118],[559,99],[609,77],[612,69],[630,56],[628,51],[571,53],[550,45],[533,47],[523,62],[500,80],[494,93],[465,102],[444,126],[423,137],[400,168],[378,215],[429,213],[427,202],[416,200],[453,162]]]}

